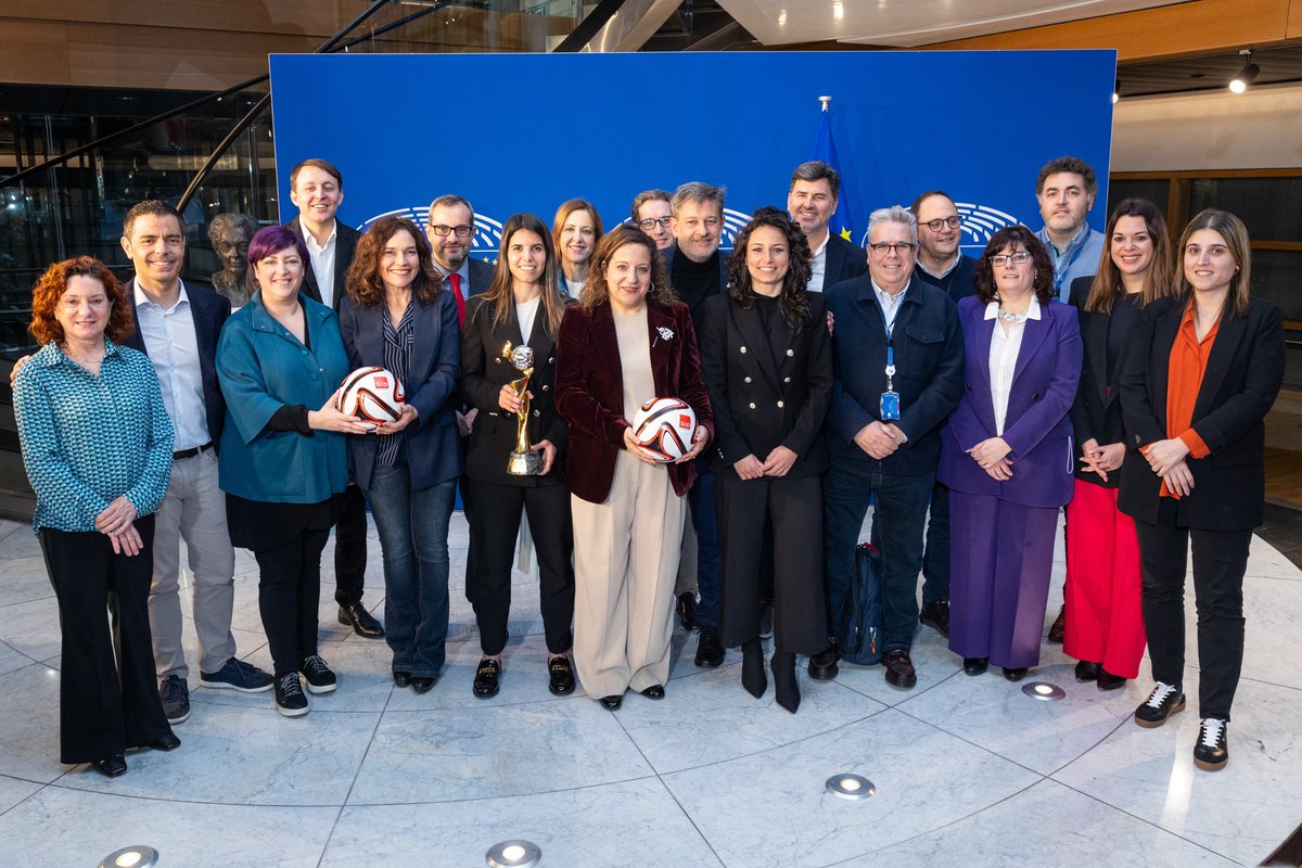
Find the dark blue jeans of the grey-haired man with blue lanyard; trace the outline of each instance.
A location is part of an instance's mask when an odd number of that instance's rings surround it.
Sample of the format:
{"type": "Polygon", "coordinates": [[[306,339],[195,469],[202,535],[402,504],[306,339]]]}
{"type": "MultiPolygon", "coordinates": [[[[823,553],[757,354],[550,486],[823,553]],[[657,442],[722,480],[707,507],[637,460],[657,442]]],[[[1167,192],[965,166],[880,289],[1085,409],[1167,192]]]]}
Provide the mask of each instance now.
{"type": "Polygon", "coordinates": [[[881,537],[881,603],[884,651],[909,651],[918,629],[918,571],[922,569],[922,527],[935,474],[893,476],[853,474],[833,466],[823,480],[824,582],[828,629],[837,642],[845,635],[845,601],[854,575],[854,547],[876,496],[874,513],[881,537]]]}

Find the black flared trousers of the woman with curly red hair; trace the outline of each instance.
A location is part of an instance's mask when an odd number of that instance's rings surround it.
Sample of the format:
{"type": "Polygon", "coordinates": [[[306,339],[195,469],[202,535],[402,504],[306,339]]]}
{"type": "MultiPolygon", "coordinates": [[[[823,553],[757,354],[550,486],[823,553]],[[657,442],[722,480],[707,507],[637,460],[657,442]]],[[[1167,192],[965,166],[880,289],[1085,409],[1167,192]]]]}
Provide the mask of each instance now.
{"type": "Polygon", "coordinates": [[[135,519],[145,547],[113,553],[98,532],[40,531],[59,597],[59,761],[94,763],[168,734],[154,675],[150,579],[154,517],[135,519]]]}

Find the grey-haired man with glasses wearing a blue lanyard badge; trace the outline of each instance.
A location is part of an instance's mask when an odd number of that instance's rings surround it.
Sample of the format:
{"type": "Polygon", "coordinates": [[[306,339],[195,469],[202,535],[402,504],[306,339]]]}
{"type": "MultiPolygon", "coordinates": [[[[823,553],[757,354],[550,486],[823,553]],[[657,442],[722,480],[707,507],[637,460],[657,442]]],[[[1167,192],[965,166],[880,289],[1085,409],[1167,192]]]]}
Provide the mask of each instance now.
{"type": "Polygon", "coordinates": [[[881,536],[881,635],[887,683],[918,682],[909,653],[918,626],[918,571],[927,500],[940,461],[940,426],[963,389],[963,338],[954,302],[914,280],[918,221],[900,206],[868,219],[868,273],[827,290],[836,388],[828,413],[832,467],[823,481],[825,583],[832,644],[810,677],[837,674],[837,639],[854,547],[876,497],[881,536]]]}

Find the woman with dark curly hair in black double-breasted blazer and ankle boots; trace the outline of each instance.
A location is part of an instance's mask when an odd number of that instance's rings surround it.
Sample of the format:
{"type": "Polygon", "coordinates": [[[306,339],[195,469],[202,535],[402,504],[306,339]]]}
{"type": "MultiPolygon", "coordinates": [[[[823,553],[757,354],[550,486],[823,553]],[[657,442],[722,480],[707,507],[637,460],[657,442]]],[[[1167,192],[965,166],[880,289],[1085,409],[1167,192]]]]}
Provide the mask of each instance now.
{"type": "Polygon", "coordinates": [[[737,236],[728,293],[706,301],[700,328],[717,431],[710,461],[723,556],[720,638],[741,645],[742,685],[762,696],[760,567],[771,562],[773,687],[790,712],[799,704],[794,655],[827,644],[823,558],[811,543],[823,539],[820,435],[832,400],[832,342],[822,293],[806,292],[809,276],[799,226],[762,208],[737,236]]]}

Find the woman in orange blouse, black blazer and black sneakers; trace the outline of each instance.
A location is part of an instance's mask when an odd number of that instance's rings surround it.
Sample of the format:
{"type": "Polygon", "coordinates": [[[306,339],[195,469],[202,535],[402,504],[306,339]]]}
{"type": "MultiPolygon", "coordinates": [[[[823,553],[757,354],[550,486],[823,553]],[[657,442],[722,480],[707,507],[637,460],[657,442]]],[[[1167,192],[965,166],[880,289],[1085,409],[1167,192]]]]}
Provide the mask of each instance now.
{"type": "Polygon", "coordinates": [[[1177,246],[1180,293],[1144,308],[1121,379],[1129,452],[1118,506],[1135,519],[1143,621],[1157,682],[1135,711],[1161,726],[1185,708],[1185,560],[1194,557],[1202,727],[1194,763],[1229,760],[1243,662],[1243,573],[1262,523],[1263,419],[1284,379],[1280,308],[1249,298],[1243,223],[1208,208],[1177,246]]]}

